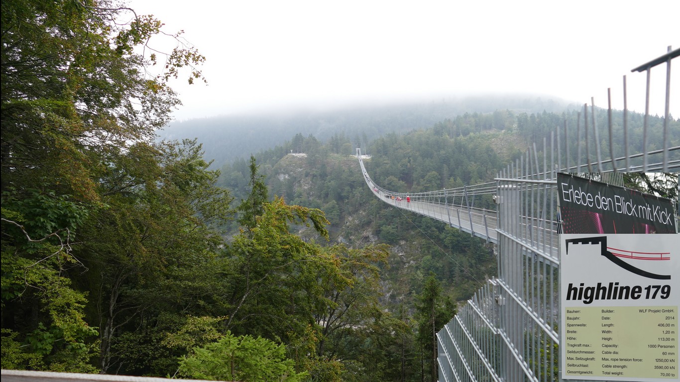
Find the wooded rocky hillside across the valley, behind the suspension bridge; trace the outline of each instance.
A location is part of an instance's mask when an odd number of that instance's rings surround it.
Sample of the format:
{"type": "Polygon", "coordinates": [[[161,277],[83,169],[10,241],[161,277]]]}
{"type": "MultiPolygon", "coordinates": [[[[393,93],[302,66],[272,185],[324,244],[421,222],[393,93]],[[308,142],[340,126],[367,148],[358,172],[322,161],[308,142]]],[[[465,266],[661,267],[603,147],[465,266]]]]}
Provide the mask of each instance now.
{"type": "MultiPolygon", "coordinates": [[[[537,137],[542,139],[554,126],[560,126],[564,118],[575,125],[575,117],[573,112],[560,116],[545,111],[515,114],[510,110],[463,114],[429,128],[377,137],[362,150],[373,154],[366,167],[380,186],[401,192],[454,188],[492,181],[534,139],[538,150],[542,150],[537,137]]],[[[600,126],[605,124],[602,120],[605,117],[606,111],[600,111],[600,126]]],[[[618,129],[620,113],[614,118],[618,129]]],[[[642,120],[636,114],[631,120],[636,124],[632,139],[639,139],[641,126],[637,125],[642,120]]],[[[651,118],[650,124],[658,127],[662,122],[660,118],[651,118]]],[[[677,121],[670,127],[671,131],[680,128],[677,121]]],[[[654,135],[653,139],[659,137],[654,135]]],[[[615,147],[619,144],[615,141],[615,147]]],[[[420,290],[424,275],[430,272],[437,275],[451,296],[457,300],[469,298],[480,282],[495,274],[492,247],[441,222],[377,200],[362,179],[354,147],[349,137],[342,134],[333,135],[326,143],[297,134],[282,145],[256,154],[256,160],[266,175],[270,197],[283,196],[286,203],[326,213],[330,243],[392,246],[390,268],[384,269],[384,292],[392,306],[397,301],[411,301],[420,290]]],[[[247,170],[245,160],[222,167],[220,185],[231,190],[236,201],[248,192],[247,170]]],[[[307,239],[316,237],[304,230],[299,235],[307,239]]]]}

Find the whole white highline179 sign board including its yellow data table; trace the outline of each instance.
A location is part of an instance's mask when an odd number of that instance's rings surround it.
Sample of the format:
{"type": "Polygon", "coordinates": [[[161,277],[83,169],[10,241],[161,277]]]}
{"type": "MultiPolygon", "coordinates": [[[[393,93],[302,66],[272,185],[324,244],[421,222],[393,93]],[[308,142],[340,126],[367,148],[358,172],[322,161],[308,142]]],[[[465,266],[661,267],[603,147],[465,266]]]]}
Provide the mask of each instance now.
{"type": "Polygon", "coordinates": [[[678,380],[680,235],[560,235],[562,379],[678,380]]]}

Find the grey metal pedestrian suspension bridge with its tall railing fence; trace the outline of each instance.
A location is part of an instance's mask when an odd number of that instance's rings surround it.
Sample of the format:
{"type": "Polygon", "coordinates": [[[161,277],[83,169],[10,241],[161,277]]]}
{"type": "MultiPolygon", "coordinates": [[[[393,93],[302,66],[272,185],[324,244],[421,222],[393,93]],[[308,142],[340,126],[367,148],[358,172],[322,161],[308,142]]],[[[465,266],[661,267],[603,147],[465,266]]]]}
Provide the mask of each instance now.
{"type": "Polygon", "coordinates": [[[610,106],[606,138],[595,123],[592,100],[590,106],[583,105],[575,128],[566,121],[556,126],[490,183],[418,193],[386,190],[371,179],[365,157],[356,150],[364,179],[381,201],[498,245],[498,276],[488,280],[437,333],[439,381],[562,380],[557,174],[598,173],[591,176],[623,186],[621,172],[680,171],[680,146],[670,145],[668,131],[670,62],[679,55],[680,50],[669,47],[664,56],[632,69],[647,74],[642,148],[629,143],[624,76],[624,137],[612,137],[610,106]],[[649,150],[650,73],[662,63],[666,63],[663,147],[649,150]],[[607,141],[608,157],[603,158],[601,146],[607,141]],[[614,141],[623,142],[619,144],[623,152],[614,152],[614,141]],[[483,197],[492,198],[496,208],[475,207],[475,200],[483,197]]]}

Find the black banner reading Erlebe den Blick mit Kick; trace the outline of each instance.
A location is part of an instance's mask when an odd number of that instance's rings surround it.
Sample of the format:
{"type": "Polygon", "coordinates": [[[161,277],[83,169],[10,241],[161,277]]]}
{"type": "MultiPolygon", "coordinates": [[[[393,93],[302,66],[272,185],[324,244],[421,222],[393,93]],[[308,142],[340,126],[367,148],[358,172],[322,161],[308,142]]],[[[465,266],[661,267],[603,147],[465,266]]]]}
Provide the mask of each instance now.
{"type": "Polygon", "coordinates": [[[676,233],[669,199],[558,173],[561,233],[676,233]]]}

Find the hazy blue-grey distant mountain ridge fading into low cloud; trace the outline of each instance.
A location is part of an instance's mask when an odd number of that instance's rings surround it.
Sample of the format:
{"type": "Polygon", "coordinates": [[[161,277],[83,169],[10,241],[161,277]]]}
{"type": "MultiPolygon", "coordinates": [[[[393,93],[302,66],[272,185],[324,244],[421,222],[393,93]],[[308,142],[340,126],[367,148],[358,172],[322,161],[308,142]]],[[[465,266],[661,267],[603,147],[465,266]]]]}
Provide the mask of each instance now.
{"type": "Polygon", "coordinates": [[[566,102],[530,94],[487,95],[441,99],[428,103],[396,103],[336,110],[294,111],[288,114],[218,116],[173,122],[158,131],[161,139],[197,138],[205,158],[219,168],[225,162],[248,158],[280,145],[300,133],[326,142],[344,135],[352,144],[367,145],[388,133],[403,134],[430,128],[462,114],[490,114],[497,109],[519,113],[561,112],[566,102]]]}

